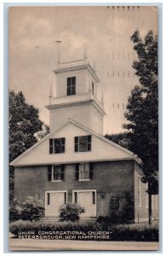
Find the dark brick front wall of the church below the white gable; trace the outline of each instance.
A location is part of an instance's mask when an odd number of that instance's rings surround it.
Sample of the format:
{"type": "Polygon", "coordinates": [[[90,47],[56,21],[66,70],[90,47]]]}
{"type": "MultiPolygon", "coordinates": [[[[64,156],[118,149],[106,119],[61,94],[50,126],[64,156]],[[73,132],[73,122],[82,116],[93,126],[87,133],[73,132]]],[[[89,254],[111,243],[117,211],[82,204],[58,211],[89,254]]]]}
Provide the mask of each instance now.
{"type": "MultiPolygon", "coordinates": [[[[68,201],[72,202],[73,189],[96,189],[96,212],[98,216],[110,216],[117,212],[124,218],[124,205],[129,193],[132,201],[129,202],[130,213],[134,209],[134,161],[122,160],[112,162],[94,163],[94,177],[90,181],[75,180],[75,165],[66,165],[65,179],[61,182],[48,181],[47,166],[16,167],[14,173],[14,195],[20,201],[25,201],[26,196],[35,195],[45,201],[47,190],[67,190],[68,201]],[[100,191],[103,190],[104,197],[100,191]],[[110,209],[111,198],[119,200],[118,209],[110,209]]],[[[132,213],[134,218],[134,212],[132,213]]]]}

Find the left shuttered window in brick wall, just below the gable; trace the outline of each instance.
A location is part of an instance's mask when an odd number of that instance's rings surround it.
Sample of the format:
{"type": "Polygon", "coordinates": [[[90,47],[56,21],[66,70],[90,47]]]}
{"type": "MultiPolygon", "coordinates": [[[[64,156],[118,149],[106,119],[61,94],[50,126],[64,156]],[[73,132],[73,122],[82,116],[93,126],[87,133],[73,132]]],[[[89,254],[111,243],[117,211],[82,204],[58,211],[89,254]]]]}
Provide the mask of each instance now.
{"type": "Polygon", "coordinates": [[[65,179],[65,165],[48,166],[48,180],[62,181],[65,179]]]}

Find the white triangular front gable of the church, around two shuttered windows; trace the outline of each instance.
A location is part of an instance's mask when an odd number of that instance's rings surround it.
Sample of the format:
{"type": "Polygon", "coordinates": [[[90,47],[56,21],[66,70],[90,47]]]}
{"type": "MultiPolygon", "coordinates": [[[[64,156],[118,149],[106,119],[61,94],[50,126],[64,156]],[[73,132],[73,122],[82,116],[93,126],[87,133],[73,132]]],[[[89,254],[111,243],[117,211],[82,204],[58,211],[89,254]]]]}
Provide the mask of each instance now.
{"type": "Polygon", "coordinates": [[[68,119],[61,124],[56,131],[50,132],[39,142],[34,144],[26,152],[20,154],[13,160],[11,166],[39,166],[49,164],[67,164],[90,161],[110,161],[110,160],[137,160],[136,156],[126,148],[106,139],[95,131],[81,125],[73,119],[68,119]],[[74,136],[92,135],[92,150],[90,152],[74,152],[72,144],[74,136]],[[66,137],[69,148],[65,154],[49,154],[49,138],[66,137]]]}

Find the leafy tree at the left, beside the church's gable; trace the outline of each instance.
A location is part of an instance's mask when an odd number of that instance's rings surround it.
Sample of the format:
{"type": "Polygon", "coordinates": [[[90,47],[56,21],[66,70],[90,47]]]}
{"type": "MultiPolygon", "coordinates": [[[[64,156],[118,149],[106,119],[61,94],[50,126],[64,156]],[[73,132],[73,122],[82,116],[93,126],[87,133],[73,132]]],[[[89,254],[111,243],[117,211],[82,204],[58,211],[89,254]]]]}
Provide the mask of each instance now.
{"type": "MultiPolygon", "coordinates": [[[[38,109],[26,103],[20,91],[9,91],[9,162],[37,143],[37,132],[43,131],[44,124],[39,119],[38,109]]],[[[48,133],[48,126],[46,126],[48,133]]],[[[9,167],[10,200],[13,198],[14,168],[9,167]]]]}

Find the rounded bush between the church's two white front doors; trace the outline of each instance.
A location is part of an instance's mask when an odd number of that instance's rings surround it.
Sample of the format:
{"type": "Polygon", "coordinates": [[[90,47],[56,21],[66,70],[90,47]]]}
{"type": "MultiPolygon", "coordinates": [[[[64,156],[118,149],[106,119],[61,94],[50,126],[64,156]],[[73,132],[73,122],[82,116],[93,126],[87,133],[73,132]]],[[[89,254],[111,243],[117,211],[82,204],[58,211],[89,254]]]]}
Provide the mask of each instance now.
{"type": "Polygon", "coordinates": [[[84,208],[77,204],[66,204],[60,207],[60,221],[78,221],[84,208]]]}

